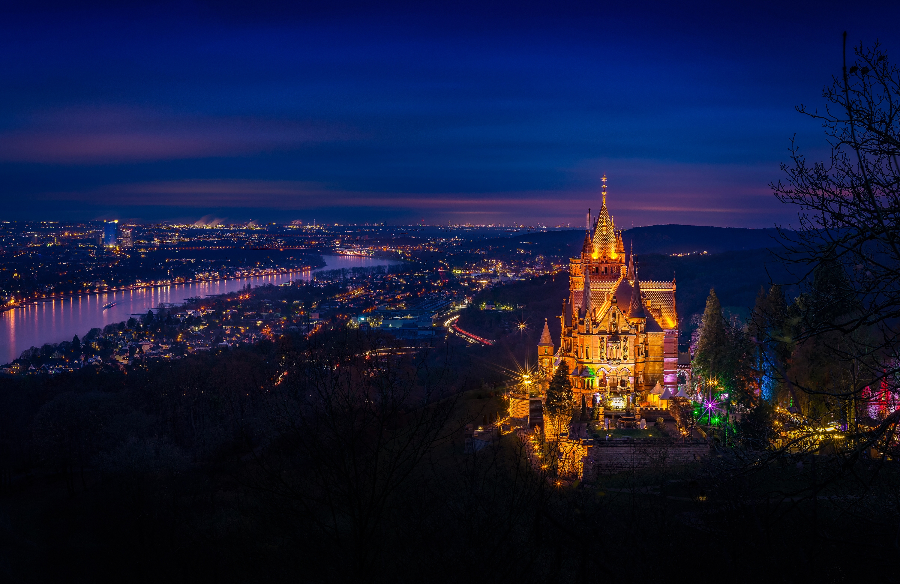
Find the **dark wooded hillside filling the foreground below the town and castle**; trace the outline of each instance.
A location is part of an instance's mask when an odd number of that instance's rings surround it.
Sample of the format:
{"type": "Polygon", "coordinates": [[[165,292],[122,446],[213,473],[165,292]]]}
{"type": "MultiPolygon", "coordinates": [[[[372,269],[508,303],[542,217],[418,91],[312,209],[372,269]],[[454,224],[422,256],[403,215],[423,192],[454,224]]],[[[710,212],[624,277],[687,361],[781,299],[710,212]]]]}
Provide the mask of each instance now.
{"type": "Polygon", "coordinates": [[[896,557],[887,463],[815,494],[839,467],[746,449],[558,486],[514,435],[463,454],[504,409],[467,371],[334,330],[4,381],[4,581],[840,582],[896,557]]]}

